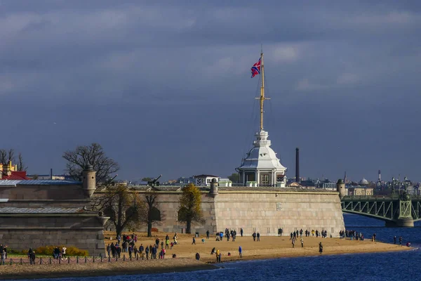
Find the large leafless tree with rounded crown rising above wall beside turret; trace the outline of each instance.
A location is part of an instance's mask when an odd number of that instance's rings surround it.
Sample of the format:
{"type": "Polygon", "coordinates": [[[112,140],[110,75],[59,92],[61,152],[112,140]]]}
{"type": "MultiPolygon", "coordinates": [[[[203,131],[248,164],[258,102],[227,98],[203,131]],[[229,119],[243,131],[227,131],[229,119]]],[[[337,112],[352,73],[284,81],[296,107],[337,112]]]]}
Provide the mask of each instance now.
{"type": "Polygon", "coordinates": [[[83,169],[88,164],[91,164],[96,171],[97,183],[105,182],[110,174],[120,169],[119,164],[107,157],[98,143],[79,145],[75,150],[66,151],[62,157],[67,160],[66,171],[76,180],[79,180],[83,169]]]}

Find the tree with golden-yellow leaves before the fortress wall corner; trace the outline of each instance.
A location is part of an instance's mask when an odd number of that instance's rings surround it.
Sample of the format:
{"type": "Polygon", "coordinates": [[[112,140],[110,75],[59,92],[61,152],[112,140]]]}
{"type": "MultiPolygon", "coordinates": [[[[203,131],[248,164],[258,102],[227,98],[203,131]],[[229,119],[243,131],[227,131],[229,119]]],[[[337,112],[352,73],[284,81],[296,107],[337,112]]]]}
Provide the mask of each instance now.
{"type": "Polygon", "coordinates": [[[201,193],[193,183],[182,188],[180,208],[178,209],[178,221],[187,224],[186,233],[192,233],[192,222],[203,223],[201,212],[201,193]]]}

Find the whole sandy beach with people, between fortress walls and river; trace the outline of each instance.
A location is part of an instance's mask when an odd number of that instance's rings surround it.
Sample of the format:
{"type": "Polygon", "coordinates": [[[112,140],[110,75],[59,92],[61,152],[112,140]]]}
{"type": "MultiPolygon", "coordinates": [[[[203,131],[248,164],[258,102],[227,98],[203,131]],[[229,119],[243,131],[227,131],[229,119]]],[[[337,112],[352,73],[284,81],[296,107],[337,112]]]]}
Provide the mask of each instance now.
{"type": "MultiPolygon", "coordinates": [[[[110,240],[109,237],[115,237],[115,233],[105,233],[105,245],[116,242],[110,240]]],[[[154,237],[146,237],[145,233],[138,233],[138,242],[144,246],[153,244],[156,237],[161,241],[165,240],[166,233],[153,233],[154,237]]],[[[174,233],[168,233],[173,237],[174,233]]],[[[0,266],[0,279],[26,279],[26,278],[42,278],[42,277],[73,277],[73,276],[100,276],[100,275],[128,275],[128,274],[145,274],[145,273],[168,273],[180,272],[188,270],[204,270],[213,269],[211,263],[215,263],[215,254],[211,255],[210,251],[215,247],[222,252],[222,262],[250,260],[250,259],[274,259],[281,257],[295,256],[314,256],[319,255],[319,242],[323,244],[323,255],[329,254],[355,254],[382,251],[406,251],[412,249],[410,247],[401,247],[394,244],[386,244],[382,242],[372,242],[371,240],[356,241],[338,238],[321,238],[321,237],[303,237],[304,247],[300,242],[292,247],[289,237],[260,237],[260,242],[253,242],[253,237],[237,237],[235,242],[215,241],[215,236],[211,236],[209,240],[206,237],[196,238],[196,244],[192,244],[194,235],[178,234],[178,245],[173,249],[167,249],[166,259],[155,259],[149,261],[118,261],[113,263],[96,262],[96,263],[79,263],[79,264],[53,264],[53,265],[13,265],[0,266]],[[205,239],[203,243],[201,240],[205,239]],[[243,249],[243,258],[239,257],[239,246],[243,249]],[[201,256],[200,261],[196,261],[194,256],[198,252],[201,256]],[[229,256],[228,253],[231,255],[229,256]],[[173,254],[177,255],[176,259],[171,259],[173,254]]],[[[128,256],[127,253],[126,257],[128,256]]]]}

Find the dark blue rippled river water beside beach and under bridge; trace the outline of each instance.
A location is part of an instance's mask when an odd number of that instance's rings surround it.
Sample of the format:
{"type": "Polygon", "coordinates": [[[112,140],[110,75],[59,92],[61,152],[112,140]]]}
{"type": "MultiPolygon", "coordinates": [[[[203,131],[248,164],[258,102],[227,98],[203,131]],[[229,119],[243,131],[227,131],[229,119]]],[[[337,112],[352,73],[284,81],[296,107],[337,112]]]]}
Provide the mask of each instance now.
{"type": "MultiPolygon", "coordinates": [[[[421,248],[421,223],[415,228],[385,228],[385,223],[372,218],[345,214],[345,226],[350,230],[377,240],[393,243],[393,237],[402,236],[413,247],[421,248]]],[[[162,281],[162,280],[421,280],[421,250],[378,254],[342,254],[282,258],[262,261],[222,263],[217,270],[188,273],[164,273],[149,275],[124,275],[110,277],[61,278],[60,281],[162,281]]],[[[52,280],[52,279],[49,279],[52,280]]]]}

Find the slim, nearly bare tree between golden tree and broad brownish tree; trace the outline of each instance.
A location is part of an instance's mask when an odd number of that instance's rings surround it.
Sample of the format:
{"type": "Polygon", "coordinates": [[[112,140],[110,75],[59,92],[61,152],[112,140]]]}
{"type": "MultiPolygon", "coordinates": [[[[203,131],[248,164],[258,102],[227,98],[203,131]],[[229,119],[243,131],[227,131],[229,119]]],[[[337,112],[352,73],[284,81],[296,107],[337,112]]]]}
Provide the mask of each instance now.
{"type": "Polygon", "coordinates": [[[160,223],[164,216],[159,210],[157,201],[159,194],[156,192],[147,192],[143,196],[143,208],[141,211],[141,219],[147,224],[147,237],[152,237],[152,226],[160,223]]]}

